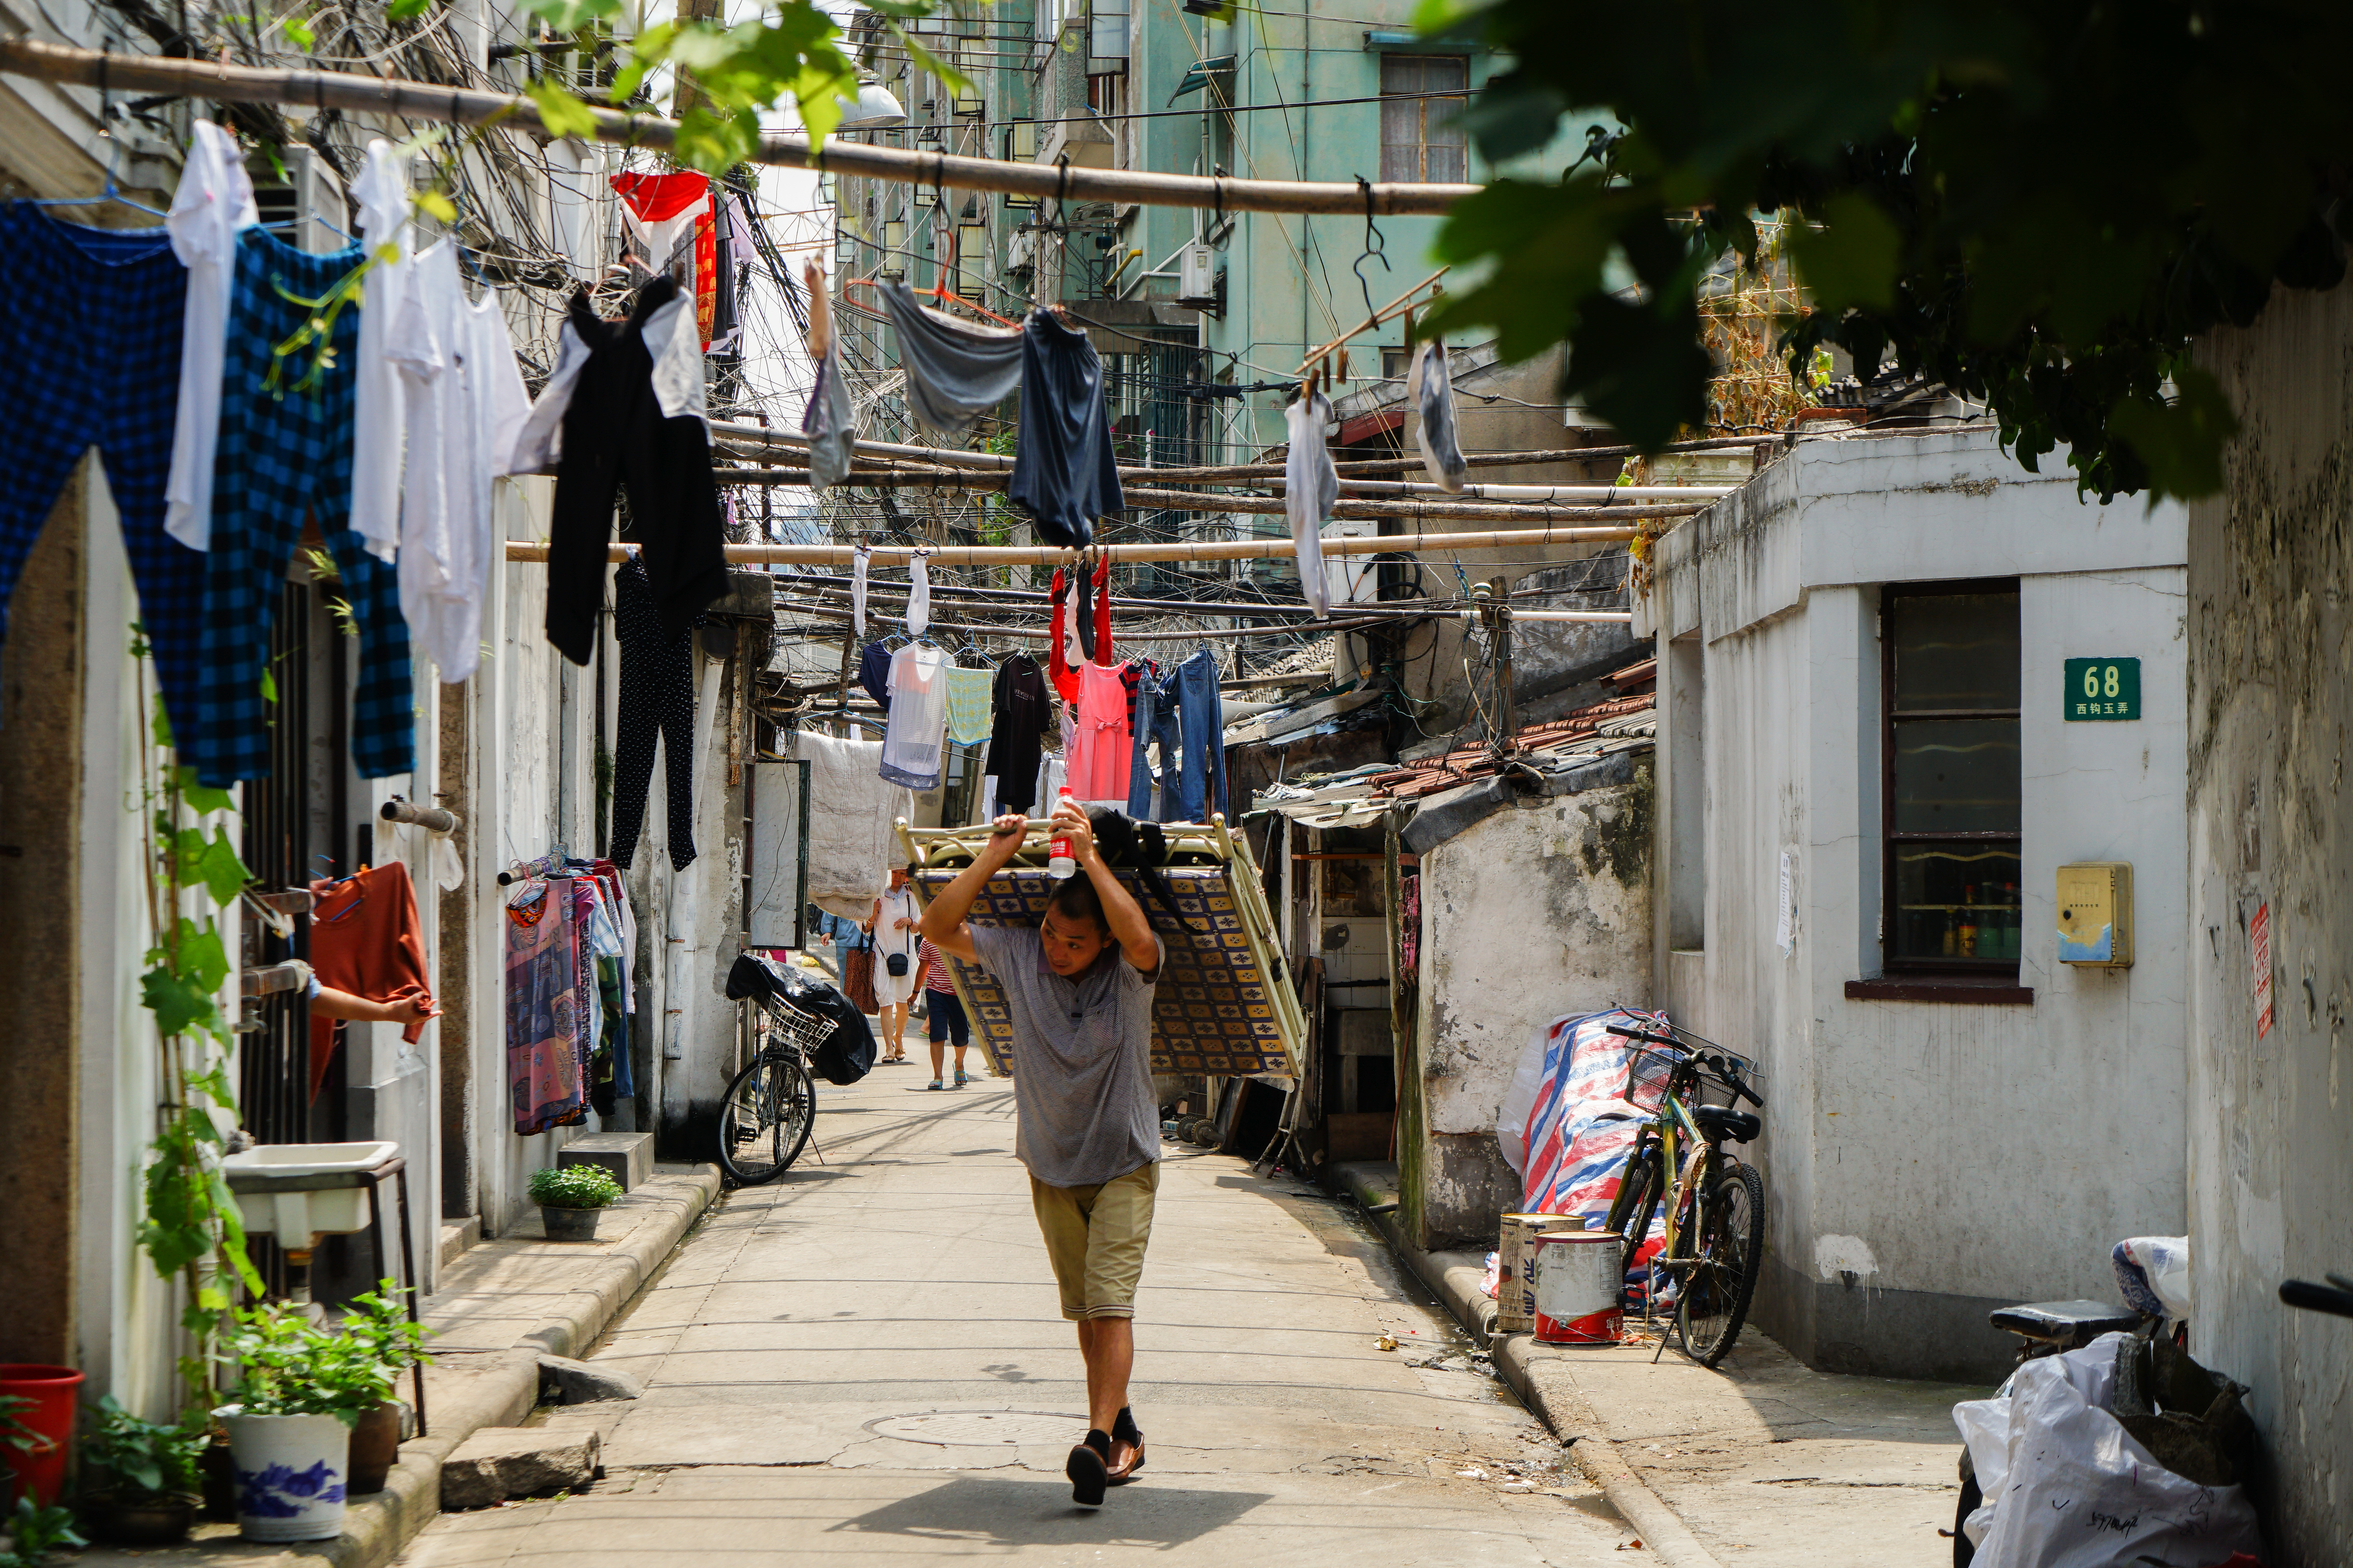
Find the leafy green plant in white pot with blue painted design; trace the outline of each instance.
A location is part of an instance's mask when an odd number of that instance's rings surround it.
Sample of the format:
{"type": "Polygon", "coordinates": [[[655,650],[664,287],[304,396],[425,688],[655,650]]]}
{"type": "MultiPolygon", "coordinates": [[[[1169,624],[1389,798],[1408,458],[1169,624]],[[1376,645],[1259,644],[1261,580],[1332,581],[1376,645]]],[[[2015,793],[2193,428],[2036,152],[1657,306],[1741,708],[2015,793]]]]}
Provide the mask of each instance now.
{"type": "Polygon", "coordinates": [[[393,1373],[346,1333],[320,1328],[294,1302],[238,1314],[226,1347],[238,1401],[228,1427],[245,1540],[332,1540],[344,1533],[351,1429],[393,1392],[393,1373]]]}

